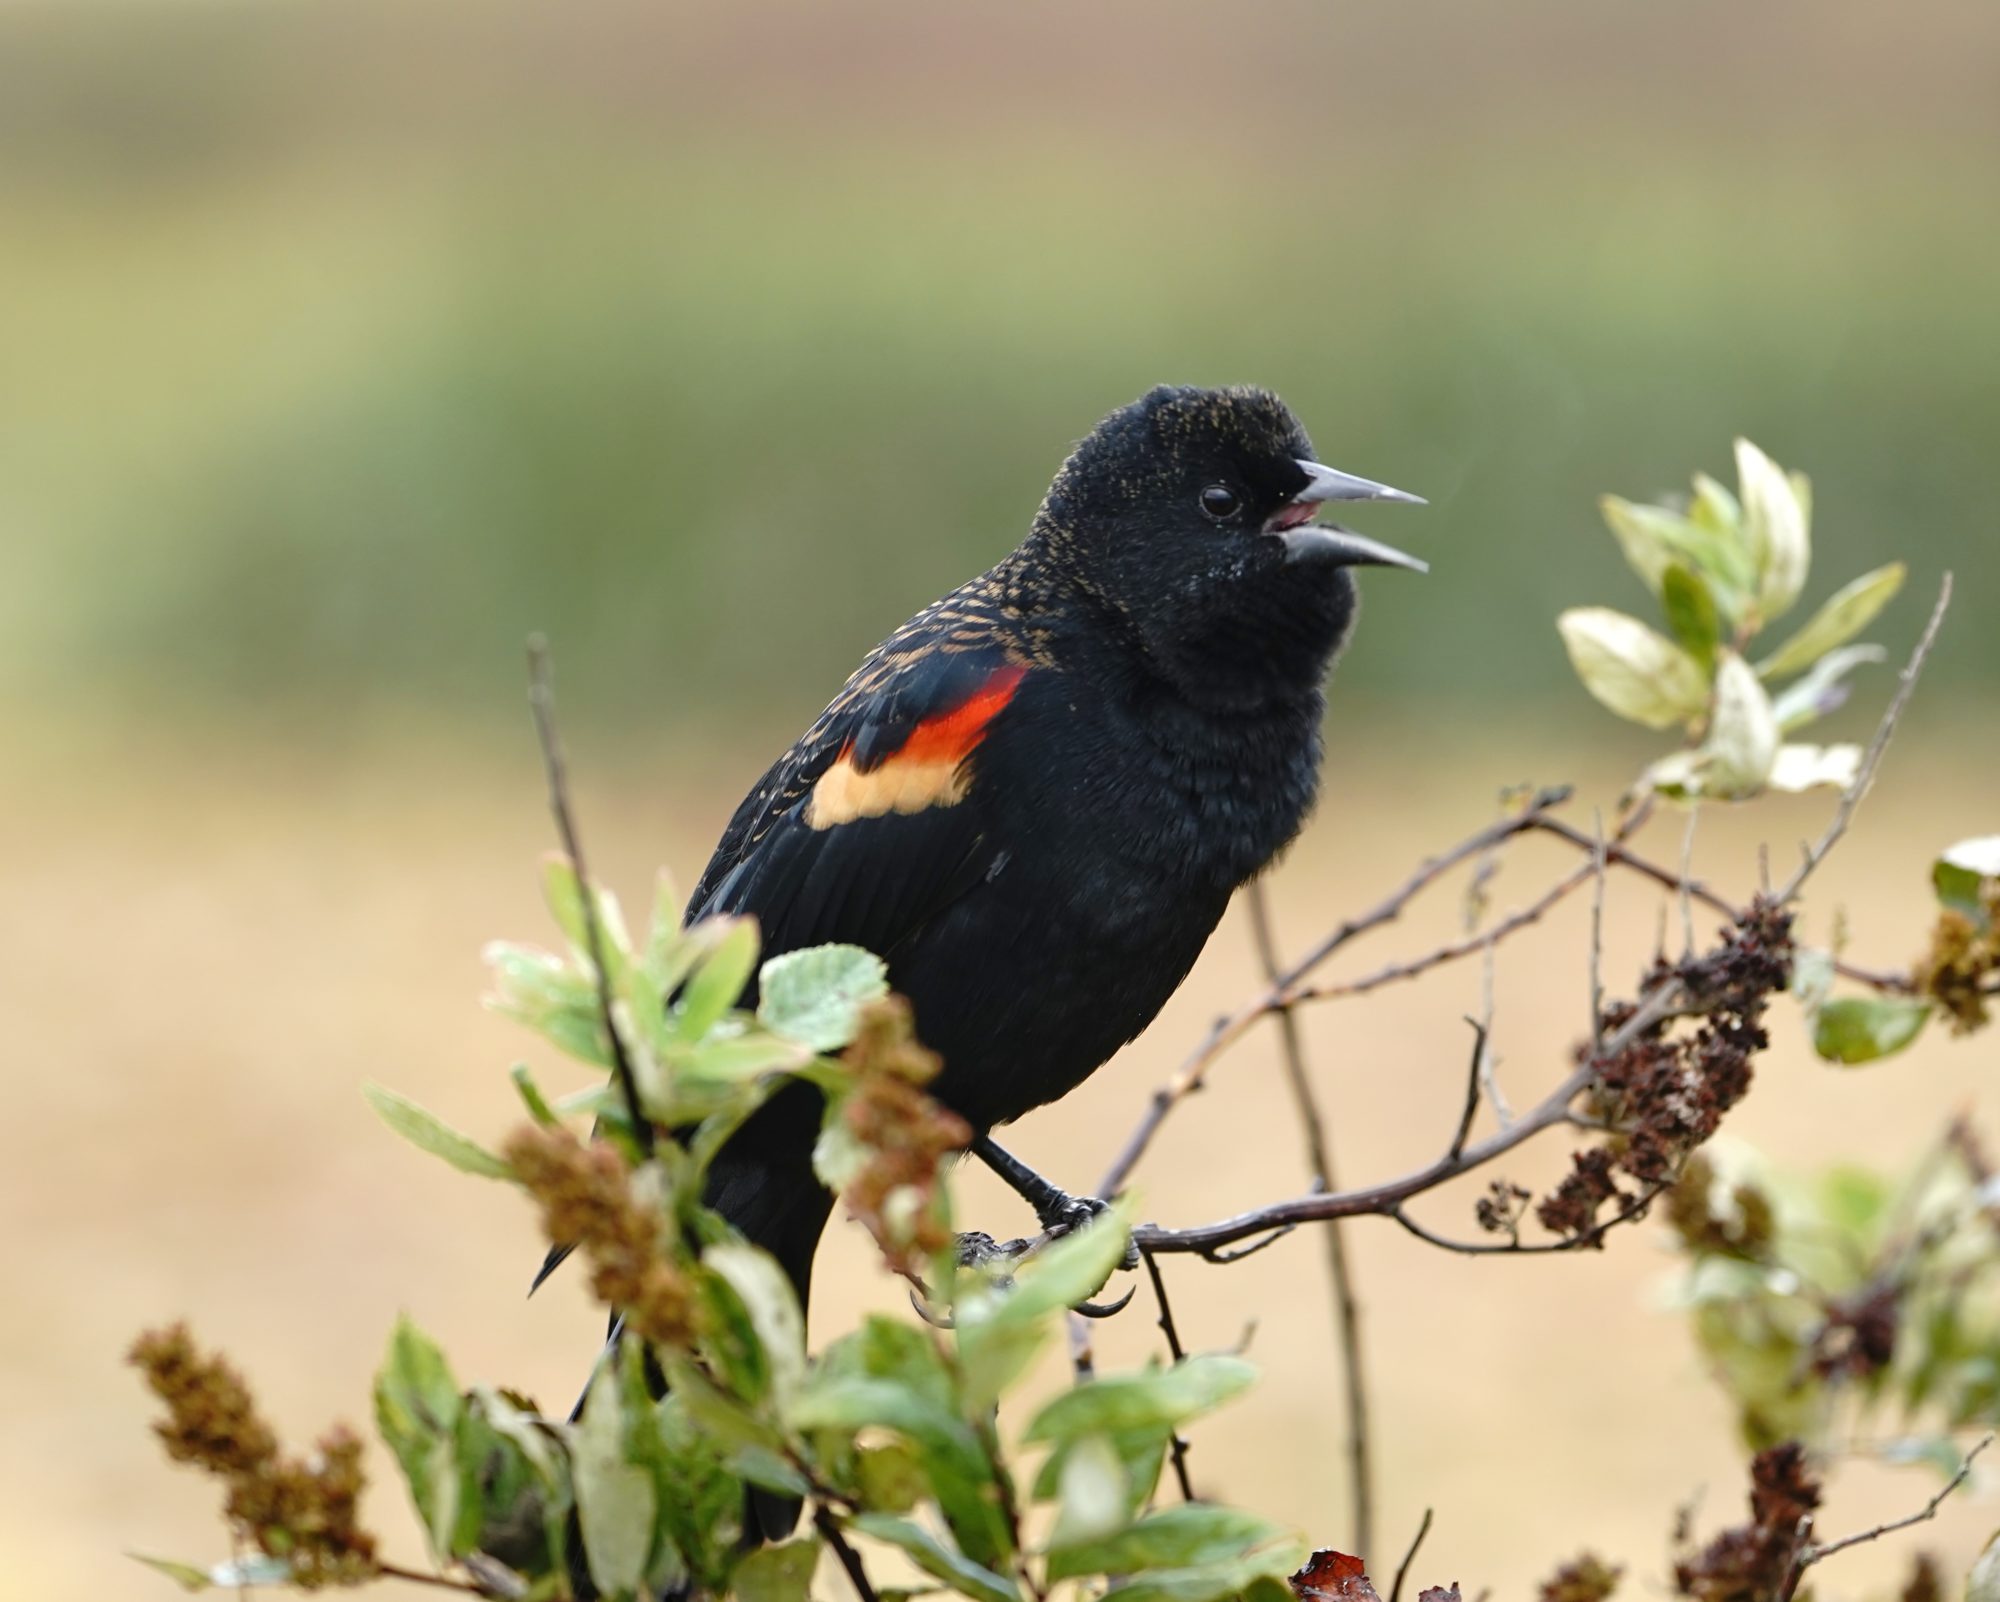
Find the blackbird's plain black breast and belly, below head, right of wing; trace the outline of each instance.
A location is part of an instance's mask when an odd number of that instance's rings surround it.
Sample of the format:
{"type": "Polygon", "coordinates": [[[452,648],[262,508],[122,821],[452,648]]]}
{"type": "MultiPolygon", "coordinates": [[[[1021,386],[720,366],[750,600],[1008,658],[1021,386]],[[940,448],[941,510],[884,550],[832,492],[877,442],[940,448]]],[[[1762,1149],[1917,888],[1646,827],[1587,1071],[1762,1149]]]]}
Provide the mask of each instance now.
{"type": "Polygon", "coordinates": [[[1316,692],[1214,720],[1144,680],[1036,674],[980,752],[996,856],[892,980],[986,1128],[1076,1088],[1200,956],[1312,806],[1316,692]]]}

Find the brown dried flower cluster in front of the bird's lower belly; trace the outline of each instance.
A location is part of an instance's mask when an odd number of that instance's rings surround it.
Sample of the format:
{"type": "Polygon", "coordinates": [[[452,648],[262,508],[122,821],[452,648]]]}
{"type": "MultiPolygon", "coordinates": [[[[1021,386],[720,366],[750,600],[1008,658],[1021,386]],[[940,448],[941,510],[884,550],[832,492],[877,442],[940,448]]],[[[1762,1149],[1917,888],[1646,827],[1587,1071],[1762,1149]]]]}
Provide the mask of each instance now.
{"type": "Polygon", "coordinates": [[[942,1064],[916,1042],[902,996],[884,996],[862,1012],[842,1060],[854,1074],[842,1118],[870,1152],[842,1200],[882,1246],[890,1268],[916,1276],[926,1258],[952,1244],[934,1206],[938,1164],[966,1148],[972,1128],[924,1092],[942,1064]]]}

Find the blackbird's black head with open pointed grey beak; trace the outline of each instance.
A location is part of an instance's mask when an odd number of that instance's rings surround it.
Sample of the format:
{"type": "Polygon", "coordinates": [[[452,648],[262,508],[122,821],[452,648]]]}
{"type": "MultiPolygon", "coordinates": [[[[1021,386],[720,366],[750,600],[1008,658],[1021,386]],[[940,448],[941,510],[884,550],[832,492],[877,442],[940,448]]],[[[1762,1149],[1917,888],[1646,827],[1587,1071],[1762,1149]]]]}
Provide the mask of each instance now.
{"type": "Polygon", "coordinates": [[[1062,464],[1036,538],[1176,676],[1318,684],[1354,618],[1356,566],[1426,566],[1322,522],[1338,502],[1418,496],[1318,460],[1256,388],[1156,388],[1062,464]]]}

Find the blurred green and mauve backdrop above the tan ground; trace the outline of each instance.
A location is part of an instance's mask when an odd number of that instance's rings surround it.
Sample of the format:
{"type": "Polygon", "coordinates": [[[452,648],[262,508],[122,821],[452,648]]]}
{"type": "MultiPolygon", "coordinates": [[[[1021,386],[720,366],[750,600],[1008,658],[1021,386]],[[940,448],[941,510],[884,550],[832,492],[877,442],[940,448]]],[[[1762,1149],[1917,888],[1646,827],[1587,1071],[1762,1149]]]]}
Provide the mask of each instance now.
{"type": "Polygon", "coordinates": [[[1946,0],[6,6],[0,638],[326,732],[512,720],[546,628],[578,716],[790,724],[1160,380],[1430,496],[1356,704],[1574,706],[1540,624],[1640,600],[1596,494],[1732,432],[1818,482],[1808,600],[1990,596],[1996,52],[1946,0]]]}

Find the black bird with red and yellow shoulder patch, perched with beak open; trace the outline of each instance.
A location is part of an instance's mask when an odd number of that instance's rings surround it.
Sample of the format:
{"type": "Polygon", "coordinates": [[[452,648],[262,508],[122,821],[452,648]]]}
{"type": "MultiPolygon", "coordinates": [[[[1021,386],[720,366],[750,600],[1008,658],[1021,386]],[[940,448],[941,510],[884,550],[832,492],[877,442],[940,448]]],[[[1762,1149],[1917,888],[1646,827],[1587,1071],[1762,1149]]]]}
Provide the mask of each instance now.
{"type": "MultiPolygon", "coordinates": [[[[934,1094],[1006,1172],[986,1134],[1144,1030],[1312,808],[1350,568],[1424,568],[1314,522],[1340,500],[1416,496],[1322,466],[1264,390],[1112,412],[1020,546],[890,634],[758,780],[688,918],[754,914],[766,954],[878,952],[944,1058],[934,1094]]],[[[786,1088],[708,1182],[800,1302],[832,1206],[818,1126],[818,1092],[786,1088]]]]}

